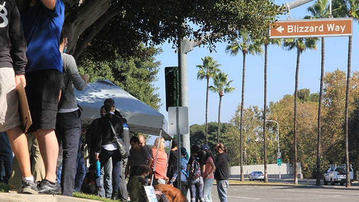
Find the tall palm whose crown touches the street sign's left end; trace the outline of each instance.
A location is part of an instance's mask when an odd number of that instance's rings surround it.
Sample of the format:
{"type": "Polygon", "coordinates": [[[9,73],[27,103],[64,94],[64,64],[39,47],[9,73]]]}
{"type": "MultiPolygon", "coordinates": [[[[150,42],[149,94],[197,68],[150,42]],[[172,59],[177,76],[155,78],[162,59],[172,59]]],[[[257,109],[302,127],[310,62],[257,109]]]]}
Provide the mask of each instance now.
{"type": "MultiPolygon", "coordinates": [[[[266,135],[266,116],[267,116],[267,62],[268,62],[268,45],[273,44],[280,46],[282,39],[264,36],[261,38],[261,44],[264,44],[264,112],[263,112],[263,150],[264,150],[264,182],[268,183],[267,174],[267,135],[266,135]]],[[[278,137],[279,138],[279,137],[278,137]]]]}

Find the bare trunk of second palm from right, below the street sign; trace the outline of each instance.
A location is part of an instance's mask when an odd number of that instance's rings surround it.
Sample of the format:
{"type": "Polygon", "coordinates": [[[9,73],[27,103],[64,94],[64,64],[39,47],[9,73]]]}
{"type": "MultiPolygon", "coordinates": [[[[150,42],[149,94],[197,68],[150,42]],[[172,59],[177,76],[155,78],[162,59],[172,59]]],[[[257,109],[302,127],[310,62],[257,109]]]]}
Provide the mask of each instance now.
{"type": "Polygon", "coordinates": [[[324,37],[322,37],[322,67],[321,67],[321,87],[319,90],[318,103],[318,140],[316,148],[316,186],[321,186],[321,127],[322,127],[322,99],[323,99],[323,77],[324,77],[324,37]]]}

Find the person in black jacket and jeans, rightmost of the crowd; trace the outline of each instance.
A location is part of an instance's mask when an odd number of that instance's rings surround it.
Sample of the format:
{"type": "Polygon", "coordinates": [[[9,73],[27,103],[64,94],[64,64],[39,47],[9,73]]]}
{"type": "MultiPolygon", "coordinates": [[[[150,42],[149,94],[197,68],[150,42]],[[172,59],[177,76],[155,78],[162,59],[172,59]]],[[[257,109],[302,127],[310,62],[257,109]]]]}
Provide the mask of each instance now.
{"type": "Polygon", "coordinates": [[[227,188],[228,188],[228,176],[229,176],[229,156],[227,148],[222,144],[215,146],[217,153],[215,159],[216,171],[214,172],[214,178],[217,181],[218,198],[221,202],[227,202],[227,188]]]}

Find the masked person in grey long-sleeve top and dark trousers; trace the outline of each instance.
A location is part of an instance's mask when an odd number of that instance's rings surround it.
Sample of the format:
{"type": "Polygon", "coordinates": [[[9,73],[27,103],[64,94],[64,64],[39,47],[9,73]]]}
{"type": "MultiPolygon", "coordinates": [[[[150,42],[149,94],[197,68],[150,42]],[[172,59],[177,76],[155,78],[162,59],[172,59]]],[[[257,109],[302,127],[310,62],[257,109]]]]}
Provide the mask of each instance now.
{"type": "MultiPolygon", "coordinates": [[[[77,70],[75,59],[66,54],[67,46],[66,31],[61,33],[59,51],[63,60],[64,84],[62,88],[61,102],[58,104],[56,115],[56,137],[59,146],[62,146],[61,189],[65,196],[72,196],[76,174],[78,145],[81,138],[81,109],[78,108],[74,88],[78,91],[85,90],[89,80],[87,74],[80,75],[77,70]]],[[[61,150],[60,150],[61,151],[61,150]]],[[[58,165],[59,166],[59,165],[58,165]]]]}

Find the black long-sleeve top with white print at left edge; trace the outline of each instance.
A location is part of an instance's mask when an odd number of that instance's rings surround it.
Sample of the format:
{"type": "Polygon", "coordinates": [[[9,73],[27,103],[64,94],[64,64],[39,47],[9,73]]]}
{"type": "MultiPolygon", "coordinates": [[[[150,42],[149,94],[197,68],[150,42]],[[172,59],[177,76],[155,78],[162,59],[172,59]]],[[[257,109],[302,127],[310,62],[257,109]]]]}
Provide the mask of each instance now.
{"type": "Polygon", "coordinates": [[[27,45],[15,0],[0,0],[0,5],[0,68],[12,67],[16,75],[25,74],[27,45]]]}

